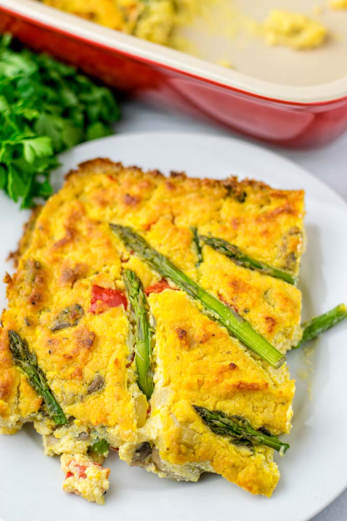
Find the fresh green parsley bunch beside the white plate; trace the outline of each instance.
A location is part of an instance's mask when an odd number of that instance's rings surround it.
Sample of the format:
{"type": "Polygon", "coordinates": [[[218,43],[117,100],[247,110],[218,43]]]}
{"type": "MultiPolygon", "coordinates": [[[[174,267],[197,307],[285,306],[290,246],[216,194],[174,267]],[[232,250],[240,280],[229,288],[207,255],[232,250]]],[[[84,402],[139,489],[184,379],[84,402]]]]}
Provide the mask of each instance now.
{"type": "Polygon", "coordinates": [[[22,208],[52,193],[56,154],[112,133],[111,91],[73,67],[0,39],[0,189],[22,208]]]}

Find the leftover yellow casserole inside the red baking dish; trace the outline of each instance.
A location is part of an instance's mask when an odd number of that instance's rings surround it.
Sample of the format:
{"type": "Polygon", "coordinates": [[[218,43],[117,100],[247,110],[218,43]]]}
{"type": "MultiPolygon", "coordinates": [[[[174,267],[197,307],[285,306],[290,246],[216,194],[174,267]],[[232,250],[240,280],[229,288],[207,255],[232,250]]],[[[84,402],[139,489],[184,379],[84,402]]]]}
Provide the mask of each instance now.
{"type": "MultiPolygon", "coordinates": [[[[341,2],[341,0],[339,0],[341,2]]],[[[264,37],[269,45],[308,49],[322,45],[327,29],[318,21],[300,13],[272,9],[266,19],[256,21],[245,16],[233,2],[226,0],[43,0],[47,5],[81,16],[139,38],[170,46],[183,46],[172,38],[175,28],[198,15],[210,16],[210,10],[224,9],[234,18],[234,31],[243,28],[264,37]]],[[[333,4],[337,7],[337,4],[333,4]]],[[[187,49],[186,49],[187,50],[187,49]]]]}

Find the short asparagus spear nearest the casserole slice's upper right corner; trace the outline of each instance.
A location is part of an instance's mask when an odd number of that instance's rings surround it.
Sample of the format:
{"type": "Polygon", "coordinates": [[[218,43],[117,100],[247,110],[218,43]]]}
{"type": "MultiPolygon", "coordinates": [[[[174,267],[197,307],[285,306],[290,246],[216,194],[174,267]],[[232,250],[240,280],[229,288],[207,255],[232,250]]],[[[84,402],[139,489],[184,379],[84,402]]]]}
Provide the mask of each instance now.
{"type": "Polygon", "coordinates": [[[207,235],[200,235],[200,239],[203,240],[205,244],[211,246],[217,252],[223,253],[230,259],[232,259],[236,264],[243,266],[249,269],[255,269],[256,271],[260,271],[265,275],[270,275],[271,277],[275,277],[276,279],[282,279],[289,284],[296,284],[297,278],[288,273],[288,271],[284,271],[279,268],[274,268],[265,264],[264,262],[255,261],[248,257],[245,253],[242,253],[237,246],[234,244],[230,244],[224,239],[219,239],[216,237],[208,237],[207,235]]]}

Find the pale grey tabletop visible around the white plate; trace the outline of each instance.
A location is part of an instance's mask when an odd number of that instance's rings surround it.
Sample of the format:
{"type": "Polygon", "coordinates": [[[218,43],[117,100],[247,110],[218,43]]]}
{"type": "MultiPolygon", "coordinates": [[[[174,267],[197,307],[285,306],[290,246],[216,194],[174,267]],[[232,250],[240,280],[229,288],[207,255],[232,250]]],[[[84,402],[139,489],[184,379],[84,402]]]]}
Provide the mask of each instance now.
{"type": "MultiPolygon", "coordinates": [[[[213,126],[211,123],[172,113],[165,109],[149,107],[135,101],[126,102],[123,105],[123,117],[115,126],[115,130],[118,133],[155,130],[205,132],[213,135],[234,136],[259,144],[255,140],[242,137],[236,132],[227,131],[219,126],[213,126]]],[[[261,144],[261,146],[286,156],[306,168],[347,201],[347,132],[335,142],[317,150],[292,151],[264,144],[261,144]]],[[[347,224],[344,226],[347,226],[347,224]]],[[[324,476],[322,476],[322,479],[324,479],[324,476]]],[[[346,520],[347,490],[320,514],[313,517],[311,521],[346,520]]]]}

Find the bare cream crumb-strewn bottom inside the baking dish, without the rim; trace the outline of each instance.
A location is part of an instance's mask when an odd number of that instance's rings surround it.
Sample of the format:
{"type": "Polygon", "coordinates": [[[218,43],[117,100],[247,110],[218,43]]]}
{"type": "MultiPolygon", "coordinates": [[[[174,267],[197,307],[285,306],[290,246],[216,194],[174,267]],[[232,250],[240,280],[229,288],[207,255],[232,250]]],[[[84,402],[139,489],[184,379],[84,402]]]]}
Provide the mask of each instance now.
{"type": "Polygon", "coordinates": [[[347,77],[347,9],[331,9],[328,0],[220,0],[206,10],[205,18],[179,31],[201,58],[230,60],[243,74],[283,85],[323,85],[347,77]],[[261,23],[273,8],[317,20],[328,29],[327,40],[319,48],[297,51],[269,46],[251,29],[242,29],[247,21],[261,23]]]}

